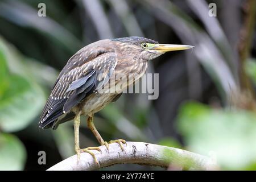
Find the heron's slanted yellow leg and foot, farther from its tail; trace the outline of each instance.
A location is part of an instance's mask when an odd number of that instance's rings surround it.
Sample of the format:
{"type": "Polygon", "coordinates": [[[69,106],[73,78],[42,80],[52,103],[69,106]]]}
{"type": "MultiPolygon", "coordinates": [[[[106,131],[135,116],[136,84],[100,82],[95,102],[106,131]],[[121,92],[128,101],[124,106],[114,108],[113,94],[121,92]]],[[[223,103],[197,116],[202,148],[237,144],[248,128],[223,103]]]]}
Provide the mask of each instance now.
{"type": "Polygon", "coordinates": [[[110,143],[118,143],[123,151],[123,144],[126,144],[126,141],[123,139],[117,139],[117,140],[111,140],[110,142],[105,142],[104,139],[102,139],[100,133],[98,133],[96,127],[94,126],[93,115],[92,115],[92,117],[90,117],[90,116],[88,117],[87,125],[88,125],[89,129],[92,131],[92,133],[94,134],[94,136],[97,138],[97,140],[101,144],[101,146],[105,145],[106,148],[109,150],[110,143]]]}

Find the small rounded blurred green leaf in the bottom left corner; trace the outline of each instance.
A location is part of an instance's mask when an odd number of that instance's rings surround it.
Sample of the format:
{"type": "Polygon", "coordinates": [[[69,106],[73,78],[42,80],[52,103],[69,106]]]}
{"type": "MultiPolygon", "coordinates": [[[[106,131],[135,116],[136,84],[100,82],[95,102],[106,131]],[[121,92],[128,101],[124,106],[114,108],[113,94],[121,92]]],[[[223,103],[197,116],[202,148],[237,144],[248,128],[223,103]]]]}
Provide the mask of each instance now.
{"type": "Polygon", "coordinates": [[[0,134],[0,171],[22,170],[26,161],[26,150],[18,138],[11,134],[0,134]]]}

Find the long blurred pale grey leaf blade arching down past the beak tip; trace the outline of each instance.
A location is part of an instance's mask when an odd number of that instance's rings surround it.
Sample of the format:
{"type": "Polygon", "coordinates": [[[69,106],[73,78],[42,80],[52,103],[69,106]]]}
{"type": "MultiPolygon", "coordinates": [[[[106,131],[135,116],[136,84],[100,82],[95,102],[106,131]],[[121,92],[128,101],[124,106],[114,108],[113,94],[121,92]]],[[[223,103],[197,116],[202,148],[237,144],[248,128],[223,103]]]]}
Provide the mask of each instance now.
{"type": "MultiPolygon", "coordinates": [[[[228,64],[229,61],[234,61],[234,59],[230,58],[230,55],[232,55],[232,52],[229,52],[231,48],[225,48],[225,55],[228,56],[224,56],[221,48],[219,48],[209,36],[209,32],[201,28],[191,16],[184,13],[184,11],[171,1],[159,1],[155,3],[153,0],[144,0],[141,2],[145,2],[144,5],[150,7],[150,10],[154,12],[156,18],[165,22],[168,26],[171,26],[181,41],[189,41],[195,46],[195,58],[200,61],[209,76],[212,77],[223,100],[228,102],[226,98],[229,97],[231,93],[230,90],[232,90],[233,93],[238,91],[238,76],[233,74],[237,73],[237,71],[235,69],[232,70],[233,67],[230,67],[230,64],[228,64]]],[[[207,9],[208,7],[204,8],[204,10],[207,9]]],[[[203,20],[203,22],[205,22],[205,20],[203,20]]],[[[216,36],[219,35],[214,35],[215,38],[216,36]]],[[[222,39],[223,43],[224,38],[222,37],[219,38],[219,40],[220,39],[222,39]]],[[[188,61],[191,61],[191,57],[192,54],[189,55],[188,61]]]]}

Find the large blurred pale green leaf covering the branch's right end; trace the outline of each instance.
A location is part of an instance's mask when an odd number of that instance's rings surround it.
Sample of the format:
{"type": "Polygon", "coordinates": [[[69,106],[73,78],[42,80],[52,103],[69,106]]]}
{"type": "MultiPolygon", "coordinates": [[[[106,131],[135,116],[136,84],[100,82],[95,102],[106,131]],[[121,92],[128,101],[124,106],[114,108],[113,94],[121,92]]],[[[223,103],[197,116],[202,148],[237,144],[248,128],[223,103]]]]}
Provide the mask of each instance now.
{"type": "Polygon", "coordinates": [[[246,169],[256,163],[255,113],[188,102],[181,107],[178,122],[188,149],[216,157],[224,169],[246,169]]]}

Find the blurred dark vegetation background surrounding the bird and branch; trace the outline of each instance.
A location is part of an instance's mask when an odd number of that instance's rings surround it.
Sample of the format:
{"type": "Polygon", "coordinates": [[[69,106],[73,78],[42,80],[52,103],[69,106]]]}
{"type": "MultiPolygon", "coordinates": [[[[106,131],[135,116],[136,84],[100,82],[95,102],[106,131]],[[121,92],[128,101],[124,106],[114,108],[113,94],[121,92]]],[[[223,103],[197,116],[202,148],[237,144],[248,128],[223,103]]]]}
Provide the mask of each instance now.
{"type": "MultiPolygon", "coordinates": [[[[105,140],[179,147],[221,169],[256,169],[255,1],[0,1],[0,169],[44,170],[75,154],[73,123],[39,130],[57,74],[80,48],[100,39],[143,36],[188,44],[151,61],[159,98],[123,94],[96,114],[105,140]],[[38,4],[46,4],[46,17],[38,4]],[[208,5],[217,5],[217,17],[208,5]],[[46,165],[38,152],[46,151],[46,165]]],[[[82,147],[98,143],[80,127],[82,147]]],[[[108,169],[160,169],[123,164],[108,169]]]]}

